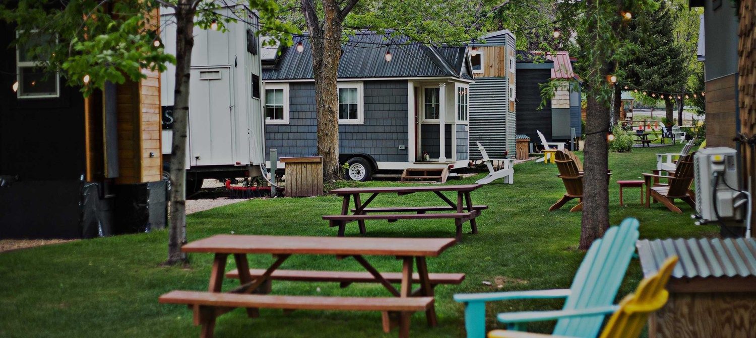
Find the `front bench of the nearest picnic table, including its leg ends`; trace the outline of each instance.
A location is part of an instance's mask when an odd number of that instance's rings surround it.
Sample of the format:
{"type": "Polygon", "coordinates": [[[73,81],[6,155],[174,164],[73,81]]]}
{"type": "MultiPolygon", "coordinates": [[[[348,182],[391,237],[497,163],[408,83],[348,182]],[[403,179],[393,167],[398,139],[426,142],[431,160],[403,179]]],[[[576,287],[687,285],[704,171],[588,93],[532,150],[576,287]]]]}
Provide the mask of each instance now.
{"type": "Polygon", "coordinates": [[[310,297],[174,290],[160,296],[158,302],[198,308],[194,324],[202,324],[201,336],[208,338],[215,328],[215,316],[228,308],[401,312],[399,336],[404,338],[409,336],[411,312],[431,309],[433,297],[310,297]]]}

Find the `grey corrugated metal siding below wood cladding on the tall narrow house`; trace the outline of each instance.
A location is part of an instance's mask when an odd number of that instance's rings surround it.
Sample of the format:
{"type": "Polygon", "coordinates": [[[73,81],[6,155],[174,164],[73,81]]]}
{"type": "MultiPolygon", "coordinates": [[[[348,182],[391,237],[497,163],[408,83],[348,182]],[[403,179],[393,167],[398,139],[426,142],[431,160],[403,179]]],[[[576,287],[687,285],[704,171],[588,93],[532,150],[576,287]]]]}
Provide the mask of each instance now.
{"type": "Polygon", "coordinates": [[[503,155],[507,150],[508,91],[507,78],[476,78],[475,83],[469,85],[471,159],[482,157],[476,141],[493,157],[503,155]]]}

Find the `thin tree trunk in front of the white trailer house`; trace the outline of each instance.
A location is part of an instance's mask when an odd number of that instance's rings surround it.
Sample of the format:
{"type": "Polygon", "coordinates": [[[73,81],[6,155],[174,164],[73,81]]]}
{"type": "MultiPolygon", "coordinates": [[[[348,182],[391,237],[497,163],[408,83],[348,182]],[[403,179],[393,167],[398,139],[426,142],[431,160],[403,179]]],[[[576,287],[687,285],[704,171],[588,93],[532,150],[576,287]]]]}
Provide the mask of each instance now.
{"type": "Polygon", "coordinates": [[[189,121],[189,76],[191,50],[194,47],[194,12],[191,1],[181,0],[175,9],[176,78],[173,107],[173,148],[171,149],[171,209],[166,264],[185,263],[181,246],[187,242],[186,225],[186,154],[189,121]]]}

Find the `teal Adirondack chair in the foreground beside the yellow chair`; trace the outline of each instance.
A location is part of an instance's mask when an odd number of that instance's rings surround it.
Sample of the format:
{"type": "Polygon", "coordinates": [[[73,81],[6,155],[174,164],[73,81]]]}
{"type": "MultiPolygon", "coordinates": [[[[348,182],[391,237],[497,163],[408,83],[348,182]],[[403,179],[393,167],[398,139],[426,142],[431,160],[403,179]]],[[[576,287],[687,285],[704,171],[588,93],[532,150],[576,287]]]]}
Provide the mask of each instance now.
{"type": "Polygon", "coordinates": [[[510,330],[521,329],[529,321],[556,320],[553,331],[556,336],[596,337],[606,314],[596,313],[584,317],[575,315],[601,306],[612,306],[635,251],[638,226],[638,220],[627,218],[619,226],[606,230],[603,238],[593,241],[569,289],[455,294],[454,300],[465,303],[467,337],[485,337],[485,302],[550,298],[564,298],[562,309],[505,312],[497,318],[507,323],[510,330]]]}

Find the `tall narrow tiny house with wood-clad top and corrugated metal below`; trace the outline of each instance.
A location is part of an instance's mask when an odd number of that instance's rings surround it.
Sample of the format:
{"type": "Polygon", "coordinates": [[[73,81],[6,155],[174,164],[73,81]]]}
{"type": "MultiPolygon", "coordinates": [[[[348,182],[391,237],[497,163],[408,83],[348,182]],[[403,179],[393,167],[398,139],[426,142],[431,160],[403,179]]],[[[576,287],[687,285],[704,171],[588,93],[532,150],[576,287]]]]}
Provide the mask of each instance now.
{"type": "Polygon", "coordinates": [[[515,35],[507,29],[469,44],[475,82],[470,84],[469,149],[480,159],[476,142],[489,155],[514,155],[517,132],[515,35]]]}

